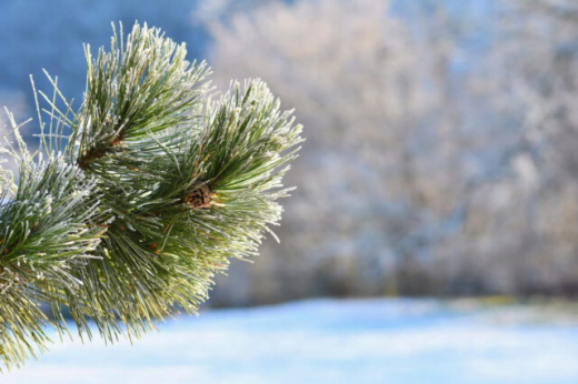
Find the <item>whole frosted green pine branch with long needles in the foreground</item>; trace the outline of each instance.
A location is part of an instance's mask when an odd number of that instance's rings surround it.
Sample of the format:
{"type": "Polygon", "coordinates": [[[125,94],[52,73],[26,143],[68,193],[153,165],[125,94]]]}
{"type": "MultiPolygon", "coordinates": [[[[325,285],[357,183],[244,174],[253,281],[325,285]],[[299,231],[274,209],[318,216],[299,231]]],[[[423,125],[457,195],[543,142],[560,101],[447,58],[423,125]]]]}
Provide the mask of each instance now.
{"type": "Polygon", "coordinates": [[[301,127],[259,80],[211,98],[209,69],[186,54],[159,29],[124,38],[120,27],[110,51],[86,47],[78,109],[57,79],[52,97],[34,90],[47,105],[39,151],[9,113],[17,144],[0,153],[19,180],[0,168],[6,366],[46,351],[47,326],[68,334],[64,313],[80,337],[93,323],[111,343],[195,313],[215,274],[256,255],[278,224],[301,127]]]}

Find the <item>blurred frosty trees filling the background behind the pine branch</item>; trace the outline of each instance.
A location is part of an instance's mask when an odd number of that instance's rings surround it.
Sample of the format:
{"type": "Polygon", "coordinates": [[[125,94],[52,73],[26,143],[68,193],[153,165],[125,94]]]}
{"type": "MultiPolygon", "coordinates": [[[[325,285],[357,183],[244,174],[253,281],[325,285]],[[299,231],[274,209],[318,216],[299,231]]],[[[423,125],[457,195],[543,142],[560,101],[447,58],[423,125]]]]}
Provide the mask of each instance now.
{"type": "MultiPolygon", "coordinates": [[[[233,262],[213,305],[578,292],[578,2],[171,1],[121,14],[190,39],[221,90],[261,77],[308,139],[288,174],[299,189],[283,202],[281,243],[233,262]]],[[[79,52],[71,37],[106,44],[98,9],[86,30],[54,14],[44,34],[79,52]]],[[[8,3],[0,14],[23,17],[8,3]]],[[[23,113],[14,39],[0,41],[0,102],[23,113]]],[[[47,67],[76,79],[82,63],[62,64],[64,53],[47,67]]]]}

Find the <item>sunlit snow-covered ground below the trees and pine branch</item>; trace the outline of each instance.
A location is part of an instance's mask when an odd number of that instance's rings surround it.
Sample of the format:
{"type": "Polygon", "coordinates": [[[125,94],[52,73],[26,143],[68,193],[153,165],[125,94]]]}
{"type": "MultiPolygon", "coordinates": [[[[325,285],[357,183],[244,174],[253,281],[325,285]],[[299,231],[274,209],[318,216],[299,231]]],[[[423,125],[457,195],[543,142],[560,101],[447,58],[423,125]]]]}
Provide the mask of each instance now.
{"type": "Polygon", "coordinates": [[[528,306],[310,300],[67,341],[0,383],[578,383],[578,323],[528,306]]]}

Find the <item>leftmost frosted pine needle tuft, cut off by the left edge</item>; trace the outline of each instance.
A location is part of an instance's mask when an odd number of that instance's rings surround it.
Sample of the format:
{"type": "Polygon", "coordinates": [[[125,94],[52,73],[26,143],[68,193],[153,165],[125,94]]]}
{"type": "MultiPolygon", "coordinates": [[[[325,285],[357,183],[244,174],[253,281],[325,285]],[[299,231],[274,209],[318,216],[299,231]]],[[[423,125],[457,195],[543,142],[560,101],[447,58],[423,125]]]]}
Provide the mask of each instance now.
{"type": "Polygon", "coordinates": [[[8,366],[46,348],[47,325],[66,332],[59,291],[79,290],[77,271],[103,232],[89,224],[102,219],[94,181],[62,156],[33,159],[18,139],[20,153],[3,151],[19,163],[18,189],[9,198],[2,189],[0,205],[0,357],[8,366]],[[54,321],[40,304],[52,306],[54,321]]]}

